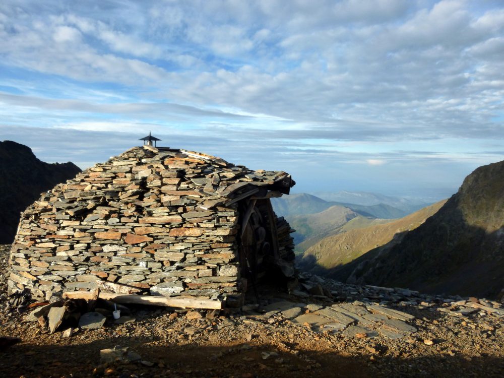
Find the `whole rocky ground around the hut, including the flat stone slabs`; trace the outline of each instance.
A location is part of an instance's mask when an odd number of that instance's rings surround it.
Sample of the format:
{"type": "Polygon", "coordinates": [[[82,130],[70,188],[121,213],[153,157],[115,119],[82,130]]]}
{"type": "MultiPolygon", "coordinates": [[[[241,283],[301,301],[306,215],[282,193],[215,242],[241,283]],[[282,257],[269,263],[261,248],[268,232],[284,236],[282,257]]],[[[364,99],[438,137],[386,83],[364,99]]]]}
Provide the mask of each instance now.
{"type": "Polygon", "coordinates": [[[260,308],[215,313],[131,306],[131,314],[124,311],[102,328],[50,334],[25,320],[30,310],[8,308],[8,247],[0,247],[0,337],[21,342],[0,345],[2,377],[504,374],[501,304],[316,276],[301,277],[304,290],[290,294],[261,287],[260,308]]]}

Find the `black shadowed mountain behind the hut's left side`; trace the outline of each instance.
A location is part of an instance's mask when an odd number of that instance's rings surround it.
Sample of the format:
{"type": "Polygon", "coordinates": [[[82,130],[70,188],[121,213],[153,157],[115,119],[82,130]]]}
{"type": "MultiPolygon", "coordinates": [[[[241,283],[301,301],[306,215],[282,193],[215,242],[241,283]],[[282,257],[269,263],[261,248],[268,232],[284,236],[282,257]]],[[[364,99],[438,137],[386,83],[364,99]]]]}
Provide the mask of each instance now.
{"type": "Polygon", "coordinates": [[[44,163],[22,144],[0,142],[0,244],[12,243],[20,213],[40,193],[64,182],[81,169],[74,163],[44,163]]]}

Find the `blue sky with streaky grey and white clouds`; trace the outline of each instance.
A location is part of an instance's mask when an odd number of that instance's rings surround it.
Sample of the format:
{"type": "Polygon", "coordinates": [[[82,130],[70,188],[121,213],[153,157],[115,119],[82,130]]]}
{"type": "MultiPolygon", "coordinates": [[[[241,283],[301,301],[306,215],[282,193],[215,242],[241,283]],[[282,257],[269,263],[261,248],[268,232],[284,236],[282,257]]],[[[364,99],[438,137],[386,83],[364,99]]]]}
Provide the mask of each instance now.
{"type": "Polygon", "coordinates": [[[504,160],[504,2],[3,0],[0,140],[47,162],[158,146],[294,192],[440,199],[504,160]]]}

